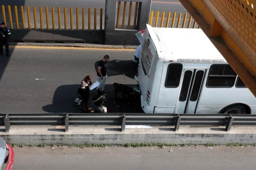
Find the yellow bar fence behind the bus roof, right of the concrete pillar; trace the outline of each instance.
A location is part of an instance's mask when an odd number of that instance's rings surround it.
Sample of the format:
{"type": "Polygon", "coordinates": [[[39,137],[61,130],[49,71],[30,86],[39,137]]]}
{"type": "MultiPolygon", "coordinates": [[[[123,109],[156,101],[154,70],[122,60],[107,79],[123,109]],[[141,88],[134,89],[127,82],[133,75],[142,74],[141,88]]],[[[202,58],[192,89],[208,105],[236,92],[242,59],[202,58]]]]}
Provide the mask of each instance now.
{"type": "MultiPolygon", "coordinates": [[[[159,11],[156,12],[154,17],[154,11],[151,11],[150,18],[149,18],[149,25],[152,27],[165,27],[165,28],[196,28],[196,21],[190,15],[187,19],[187,13],[185,13],[182,17],[182,13],[179,13],[178,17],[176,18],[176,12],[173,12],[172,18],[170,18],[171,12],[167,13],[167,17],[165,18],[165,12],[162,12],[161,18],[159,18],[159,11]],[[154,23],[153,23],[154,19],[154,23]],[[161,19],[160,23],[158,20],[161,19]],[[165,25],[164,24],[165,21],[165,25]],[[181,24],[182,22],[182,24],[181,24]],[[193,25],[191,24],[193,22],[193,25]]],[[[199,25],[197,28],[200,28],[199,25]]]]}

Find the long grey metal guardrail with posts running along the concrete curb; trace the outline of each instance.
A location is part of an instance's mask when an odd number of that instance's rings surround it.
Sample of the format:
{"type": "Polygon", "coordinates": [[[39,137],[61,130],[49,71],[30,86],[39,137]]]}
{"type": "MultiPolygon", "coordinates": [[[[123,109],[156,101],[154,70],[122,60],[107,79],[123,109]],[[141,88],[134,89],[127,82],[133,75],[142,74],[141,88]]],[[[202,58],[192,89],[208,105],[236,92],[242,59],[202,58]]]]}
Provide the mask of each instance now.
{"type": "Polygon", "coordinates": [[[64,126],[65,132],[69,125],[148,125],[175,126],[180,125],[215,125],[226,126],[229,131],[232,125],[256,126],[256,115],[245,114],[156,114],[156,113],[2,113],[0,126],[9,132],[15,125],[52,125],[64,126]]]}

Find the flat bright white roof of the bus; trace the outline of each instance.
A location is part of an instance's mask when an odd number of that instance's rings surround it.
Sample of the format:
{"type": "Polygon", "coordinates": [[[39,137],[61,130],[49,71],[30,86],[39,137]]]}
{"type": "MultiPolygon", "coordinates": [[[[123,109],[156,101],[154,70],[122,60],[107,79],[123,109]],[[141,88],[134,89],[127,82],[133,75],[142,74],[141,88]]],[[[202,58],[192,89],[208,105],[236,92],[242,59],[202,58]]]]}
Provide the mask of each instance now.
{"type": "Polygon", "coordinates": [[[158,38],[153,41],[159,42],[160,46],[155,46],[158,53],[163,52],[164,62],[227,62],[201,29],[151,28],[158,38]]]}

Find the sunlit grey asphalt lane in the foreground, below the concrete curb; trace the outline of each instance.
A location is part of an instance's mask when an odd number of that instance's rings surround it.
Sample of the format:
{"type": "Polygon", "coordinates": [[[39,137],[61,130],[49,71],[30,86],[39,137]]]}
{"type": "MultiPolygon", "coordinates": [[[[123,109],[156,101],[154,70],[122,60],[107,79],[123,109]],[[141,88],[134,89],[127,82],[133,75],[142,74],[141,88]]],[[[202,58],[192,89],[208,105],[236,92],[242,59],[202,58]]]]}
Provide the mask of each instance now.
{"type": "Polygon", "coordinates": [[[53,148],[14,147],[13,170],[253,170],[256,167],[255,146],[53,148]]]}

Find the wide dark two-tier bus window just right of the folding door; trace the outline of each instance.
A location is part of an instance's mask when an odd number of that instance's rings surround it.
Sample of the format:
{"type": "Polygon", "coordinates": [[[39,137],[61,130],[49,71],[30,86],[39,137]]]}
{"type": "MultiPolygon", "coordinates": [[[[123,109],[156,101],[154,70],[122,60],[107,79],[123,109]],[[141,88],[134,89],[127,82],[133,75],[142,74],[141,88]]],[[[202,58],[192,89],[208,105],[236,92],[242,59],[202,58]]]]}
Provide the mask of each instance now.
{"type": "Polygon", "coordinates": [[[228,64],[213,64],[210,67],[206,87],[233,87],[237,74],[228,64]]]}

